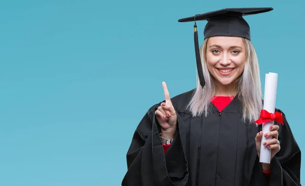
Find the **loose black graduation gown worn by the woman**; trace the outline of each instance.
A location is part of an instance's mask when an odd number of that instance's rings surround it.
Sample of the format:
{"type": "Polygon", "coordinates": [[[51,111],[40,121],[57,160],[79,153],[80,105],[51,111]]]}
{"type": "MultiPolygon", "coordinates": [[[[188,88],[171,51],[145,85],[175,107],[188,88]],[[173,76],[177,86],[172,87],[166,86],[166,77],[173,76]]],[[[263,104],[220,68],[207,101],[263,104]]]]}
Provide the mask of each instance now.
{"type": "Polygon", "coordinates": [[[150,107],[140,121],[127,152],[124,186],[245,186],[300,185],[301,153],[284,113],[279,125],[281,150],[271,160],[271,176],[264,175],[255,137],[261,130],[242,121],[238,96],[222,110],[211,104],[207,117],[192,117],[186,109],[194,90],[171,98],[177,131],[164,154],[160,126],[150,107]]]}

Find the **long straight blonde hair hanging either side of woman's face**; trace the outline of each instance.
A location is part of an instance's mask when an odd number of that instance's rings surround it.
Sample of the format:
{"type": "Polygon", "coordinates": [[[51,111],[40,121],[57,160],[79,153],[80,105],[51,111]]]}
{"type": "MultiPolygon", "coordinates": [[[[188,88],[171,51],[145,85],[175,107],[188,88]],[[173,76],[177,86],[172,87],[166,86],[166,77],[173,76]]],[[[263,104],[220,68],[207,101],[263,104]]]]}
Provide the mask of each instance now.
{"type": "MultiPolygon", "coordinates": [[[[260,71],[257,55],[252,43],[247,39],[242,40],[246,47],[246,63],[240,77],[234,82],[234,89],[238,94],[238,99],[242,103],[242,119],[253,122],[259,118],[262,109],[260,71]]],[[[216,93],[214,78],[209,73],[206,65],[207,41],[208,39],[200,47],[202,70],[206,85],[204,89],[200,86],[197,74],[197,88],[188,104],[188,109],[194,117],[202,114],[205,114],[205,117],[207,117],[208,106],[216,93]]]]}

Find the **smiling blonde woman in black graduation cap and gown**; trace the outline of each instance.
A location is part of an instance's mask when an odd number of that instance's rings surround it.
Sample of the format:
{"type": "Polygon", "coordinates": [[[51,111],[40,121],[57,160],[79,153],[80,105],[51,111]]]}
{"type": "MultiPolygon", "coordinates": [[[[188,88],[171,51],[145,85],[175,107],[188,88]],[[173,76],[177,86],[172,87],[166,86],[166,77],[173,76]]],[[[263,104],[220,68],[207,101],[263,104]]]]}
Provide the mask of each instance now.
{"type": "Polygon", "coordinates": [[[122,185],[300,185],[300,149],[284,113],[275,110],[283,123],[264,136],[255,123],[263,108],[260,73],[242,16],[270,10],[223,9],[181,20],[208,20],[197,88],[170,98],[163,82],[165,101],[138,125],[122,185]],[[270,136],[263,145],[271,162],[262,164],[261,140],[270,136]]]}

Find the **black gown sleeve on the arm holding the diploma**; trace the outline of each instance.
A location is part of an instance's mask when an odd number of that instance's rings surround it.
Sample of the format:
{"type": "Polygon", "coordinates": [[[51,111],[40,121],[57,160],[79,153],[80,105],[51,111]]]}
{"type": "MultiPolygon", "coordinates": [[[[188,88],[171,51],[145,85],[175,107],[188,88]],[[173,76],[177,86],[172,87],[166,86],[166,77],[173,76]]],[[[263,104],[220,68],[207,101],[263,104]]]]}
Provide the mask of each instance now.
{"type": "MultiPolygon", "coordinates": [[[[253,178],[257,180],[255,182],[262,181],[259,185],[300,186],[301,151],[294,139],[285,114],[280,109],[277,109],[276,111],[282,113],[284,121],[284,125],[275,122],[275,124],[280,126],[278,139],[280,141],[281,150],[271,160],[272,172],[270,178],[263,175],[257,175],[255,176],[256,178],[253,178]]],[[[257,169],[255,172],[261,170],[261,164],[259,163],[258,158],[256,160],[255,169],[257,169]]]]}

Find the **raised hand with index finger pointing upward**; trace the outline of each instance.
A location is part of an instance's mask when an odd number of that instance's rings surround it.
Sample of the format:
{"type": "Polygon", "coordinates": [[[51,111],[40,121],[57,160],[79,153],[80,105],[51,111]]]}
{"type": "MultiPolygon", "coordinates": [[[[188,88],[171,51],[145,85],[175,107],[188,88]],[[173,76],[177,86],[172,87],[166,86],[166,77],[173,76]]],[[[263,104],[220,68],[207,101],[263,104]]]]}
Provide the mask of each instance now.
{"type": "Polygon", "coordinates": [[[161,126],[161,136],[173,139],[176,133],[177,115],[169,97],[169,92],[165,82],[162,82],[165,102],[155,111],[157,121],[161,126]]]}

